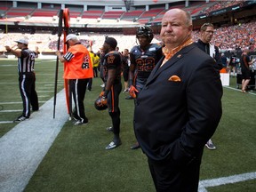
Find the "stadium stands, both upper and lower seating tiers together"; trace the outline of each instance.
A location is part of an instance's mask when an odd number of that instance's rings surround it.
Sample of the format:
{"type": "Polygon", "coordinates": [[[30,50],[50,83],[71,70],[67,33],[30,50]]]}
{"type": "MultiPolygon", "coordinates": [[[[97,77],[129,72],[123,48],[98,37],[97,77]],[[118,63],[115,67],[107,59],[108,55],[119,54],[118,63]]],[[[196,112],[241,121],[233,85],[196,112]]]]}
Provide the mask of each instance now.
{"type": "MultiPolygon", "coordinates": [[[[190,12],[192,15],[198,15],[204,12],[209,12],[213,10],[222,9],[223,7],[228,7],[230,5],[234,4],[241,4],[244,1],[227,1],[220,4],[220,1],[210,1],[209,3],[201,3],[201,2],[190,2],[188,7],[185,7],[185,4],[172,4],[170,8],[182,8],[190,12]]],[[[20,5],[20,4],[18,4],[20,5]]],[[[171,5],[171,4],[170,4],[171,5]]],[[[111,28],[119,28],[118,25],[124,24],[125,25],[131,25],[131,28],[125,29],[125,35],[116,35],[116,39],[118,39],[118,46],[120,46],[120,49],[123,50],[124,48],[129,48],[133,44],[135,44],[135,38],[134,38],[134,30],[132,28],[136,28],[135,25],[143,25],[145,23],[154,23],[154,22],[161,22],[164,12],[166,10],[164,9],[164,6],[162,7],[156,6],[149,6],[150,9],[147,12],[146,7],[141,8],[141,6],[136,7],[135,10],[130,10],[128,12],[123,11],[109,11],[105,12],[104,6],[88,6],[88,11],[84,11],[83,6],[79,5],[68,5],[68,9],[70,12],[71,17],[71,23],[74,25],[81,24],[81,25],[92,25],[93,29],[91,29],[94,33],[91,34],[90,32],[79,32],[80,37],[82,40],[86,43],[88,39],[93,41],[93,50],[100,49],[100,46],[102,45],[101,38],[104,38],[105,35],[111,35],[111,31],[105,28],[99,29],[100,25],[106,25],[111,26],[111,28]],[[79,20],[77,19],[79,18],[79,20]],[[100,20],[98,20],[100,18],[100,20]],[[116,20],[119,18],[120,20],[116,20]],[[96,19],[96,20],[95,20],[96,19]],[[113,19],[116,20],[116,22],[113,22],[113,19]],[[100,23],[99,23],[100,22],[100,23]],[[116,27],[117,26],[117,27],[116,27]],[[97,31],[98,29],[98,31],[97,31]],[[99,34],[97,34],[99,33],[99,34]],[[104,33],[104,35],[102,35],[104,33]],[[131,35],[131,36],[128,36],[131,35]],[[98,40],[99,39],[99,40],[98,40]]],[[[26,7],[26,4],[21,4],[18,7],[12,7],[12,4],[10,3],[3,3],[0,2],[0,12],[4,15],[1,20],[6,20],[9,23],[14,23],[16,26],[22,26],[22,25],[34,25],[34,26],[57,26],[58,20],[53,20],[53,16],[58,15],[60,10],[60,4],[52,6],[51,4],[43,4],[42,9],[38,9],[36,7],[36,4],[33,4],[32,7],[28,6],[26,7]],[[10,14],[8,14],[10,13],[10,14]],[[5,18],[5,14],[7,14],[7,19],[5,18]],[[17,15],[15,15],[17,14],[17,15]],[[27,15],[31,15],[30,18],[26,19],[27,15]],[[13,17],[12,17],[13,16],[13,17]],[[44,16],[44,17],[43,17],[44,16]]],[[[1,21],[0,20],[0,21],[1,21]]],[[[256,42],[256,35],[255,35],[255,21],[251,20],[251,22],[248,22],[249,20],[244,20],[241,23],[233,23],[236,25],[229,26],[231,23],[229,23],[226,26],[216,26],[216,32],[214,35],[214,39],[212,41],[215,44],[218,44],[220,46],[221,50],[234,50],[236,46],[240,46],[241,48],[249,48],[255,49],[255,42],[256,42]],[[239,25],[238,25],[239,24],[239,25]],[[232,36],[231,36],[232,34],[232,36]],[[253,48],[254,47],[254,48],[253,48]]],[[[8,24],[9,24],[8,23],[8,24]]],[[[85,27],[86,28],[86,27],[85,27]]],[[[90,27],[92,28],[92,27],[90,27]]],[[[56,49],[54,46],[56,46],[56,38],[57,36],[52,35],[56,33],[55,29],[49,29],[47,34],[40,34],[40,32],[36,32],[36,34],[28,34],[30,31],[23,30],[22,28],[18,28],[20,32],[20,36],[28,37],[28,39],[33,39],[29,43],[30,46],[35,46],[35,44],[38,44],[40,49],[44,52],[54,52],[56,49]],[[55,32],[52,32],[52,30],[55,30],[55,32]],[[32,36],[32,37],[31,37],[32,36]],[[40,37],[37,37],[40,36],[40,37]],[[35,39],[35,40],[34,40],[35,39]]],[[[89,29],[90,30],[90,29],[89,29]]],[[[76,30],[73,30],[73,32],[76,32],[76,30]]],[[[124,31],[123,31],[124,32],[124,31]]],[[[159,30],[156,30],[156,38],[159,39],[158,34],[159,30]]],[[[199,32],[196,30],[193,32],[193,37],[195,40],[198,38],[199,32]]],[[[6,42],[10,42],[10,39],[16,39],[17,34],[1,34],[0,39],[3,42],[3,45],[0,47],[0,51],[4,51],[4,44],[6,42]],[[13,37],[12,37],[13,36],[13,37]]]]}

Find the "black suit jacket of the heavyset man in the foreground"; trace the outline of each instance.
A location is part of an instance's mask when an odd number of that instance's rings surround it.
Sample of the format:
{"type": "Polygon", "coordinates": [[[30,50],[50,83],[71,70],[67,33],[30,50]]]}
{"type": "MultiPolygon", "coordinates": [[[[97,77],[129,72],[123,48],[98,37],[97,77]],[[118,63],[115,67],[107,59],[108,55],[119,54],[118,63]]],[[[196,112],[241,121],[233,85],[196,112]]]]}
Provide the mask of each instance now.
{"type": "Polygon", "coordinates": [[[136,100],[134,131],[150,159],[171,157],[188,163],[202,155],[220,122],[219,69],[196,44],[183,48],[160,68],[162,60],[136,100]],[[179,76],[180,81],[169,80],[171,76],[179,76]]]}

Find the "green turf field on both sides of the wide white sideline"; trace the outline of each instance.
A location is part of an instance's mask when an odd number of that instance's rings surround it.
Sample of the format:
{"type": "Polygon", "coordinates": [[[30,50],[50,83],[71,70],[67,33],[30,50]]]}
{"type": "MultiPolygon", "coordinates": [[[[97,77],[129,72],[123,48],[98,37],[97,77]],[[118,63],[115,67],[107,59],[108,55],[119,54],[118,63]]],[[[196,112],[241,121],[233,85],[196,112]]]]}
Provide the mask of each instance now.
{"type": "MultiPolygon", "coordinates": [[[[62,71],[60,63],[58,91],[63,88],[62,71]]],[[[40,106],[53,96],[54,76],[55,60],[36,60],[36,91],[40,106]]],[[[0,84],[0,123],[10,122],[20,116],[22,109],[16,60],[0,60],[0,84]]],[[[132,130],[133,100],[124,99],[127,93],[120,94],[123,144],[116,149],[105,150],[112,140],[112,134],[106,132],[110,117],[107,111],[97,111],[93,107],[93,101],[101,91],[100,84],[100,78],[94,78],[92,92],[86,92],[84,105],[89,124],[74,126],[67,119],[25,191],[155,191],[146,156],[140,149],[130,149],[135,141],[132,130]]],[[[211,183],[212,187],[202,191],[253,192],[256,179],[250,180],[245,173],[256,174],[256,92],[240,92],[236,89],[236,78],[231,78],[230,86],[224,88],[222,105],[223,116],[212,137],[217,149],[204,149],[201,168],[200,180],[211,183]],[[218,178],[222,179],[215,180],[218,178]],[[239,181],[241,178],[244,181],[239,181]]],[[[0,137],[13,126],[13,123],[1,123],[0,137]]]]}

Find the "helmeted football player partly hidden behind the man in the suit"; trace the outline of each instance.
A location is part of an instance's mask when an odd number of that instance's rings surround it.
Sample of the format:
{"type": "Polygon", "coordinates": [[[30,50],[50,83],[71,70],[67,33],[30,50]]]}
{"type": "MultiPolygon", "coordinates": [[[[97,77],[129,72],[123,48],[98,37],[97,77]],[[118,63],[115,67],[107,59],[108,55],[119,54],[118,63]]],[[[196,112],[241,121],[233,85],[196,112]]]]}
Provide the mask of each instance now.
{"type": "MultiPolygon", "coordinates": [[[[151,28],[147,26],[137,28],[136,43],[138,44],[138,40],[139,44],[132,47],[130,52],[129,93],[132,99],[138,97],[151,71],[163,56],[161,44],[151,44],[153,37],[151,28]]],[[[140,144],[136,142],[131,148],[140,148],[140,144]]]]}

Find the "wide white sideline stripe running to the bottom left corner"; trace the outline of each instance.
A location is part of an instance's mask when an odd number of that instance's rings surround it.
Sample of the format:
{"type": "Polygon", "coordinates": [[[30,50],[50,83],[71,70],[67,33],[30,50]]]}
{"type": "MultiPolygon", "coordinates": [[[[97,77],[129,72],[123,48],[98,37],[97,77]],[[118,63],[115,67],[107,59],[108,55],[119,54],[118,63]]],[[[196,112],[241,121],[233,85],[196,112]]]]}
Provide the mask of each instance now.
{"type": "Polygon", "coordinates": [[[48,100],[29,120],[15,125],[0,138],[0,191],[23,191],[52,142],[68,120],[64,90],[58,93],[55,119],[48,100]],[[35,126],[39,124],[39,126],[35,126]]]}

